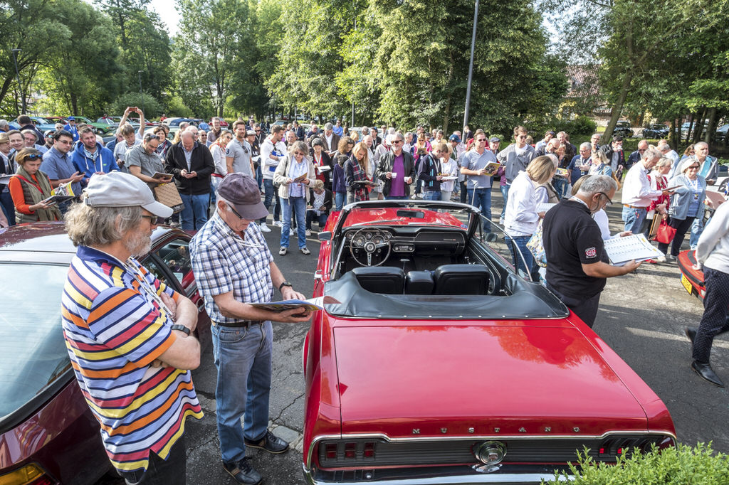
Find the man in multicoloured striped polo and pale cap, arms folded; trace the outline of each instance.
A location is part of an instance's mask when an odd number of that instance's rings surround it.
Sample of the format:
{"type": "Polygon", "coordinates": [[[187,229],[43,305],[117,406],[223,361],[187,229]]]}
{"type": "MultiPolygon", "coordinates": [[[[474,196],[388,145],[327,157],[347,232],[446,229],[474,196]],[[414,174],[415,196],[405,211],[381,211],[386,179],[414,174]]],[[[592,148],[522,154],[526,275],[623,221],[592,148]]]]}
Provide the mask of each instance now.
{"type": "Polygon", "coordinates": [[[200,419],[190,369],[195,304],[139,264],[172,210],[128,173],[93,176],[66,214],[78,251],[63,288],[63,335],[79,387],[127,484],[184,484],[184,424],[200,419]]]}

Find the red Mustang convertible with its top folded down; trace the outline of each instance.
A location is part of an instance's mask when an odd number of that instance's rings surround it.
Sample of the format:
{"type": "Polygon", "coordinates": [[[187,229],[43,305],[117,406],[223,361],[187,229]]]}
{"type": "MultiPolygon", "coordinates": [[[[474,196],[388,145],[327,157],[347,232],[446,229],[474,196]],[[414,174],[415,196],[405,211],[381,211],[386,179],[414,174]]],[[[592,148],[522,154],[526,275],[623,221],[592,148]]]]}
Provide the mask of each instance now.
{"type": "Polygon", "coordinates": [[[660,398],[476,208],[359,202],[326,229],[314,296],[338,303],[303,349],[308,483],[538,484],[585,447],[674,446],[660,398]]]}

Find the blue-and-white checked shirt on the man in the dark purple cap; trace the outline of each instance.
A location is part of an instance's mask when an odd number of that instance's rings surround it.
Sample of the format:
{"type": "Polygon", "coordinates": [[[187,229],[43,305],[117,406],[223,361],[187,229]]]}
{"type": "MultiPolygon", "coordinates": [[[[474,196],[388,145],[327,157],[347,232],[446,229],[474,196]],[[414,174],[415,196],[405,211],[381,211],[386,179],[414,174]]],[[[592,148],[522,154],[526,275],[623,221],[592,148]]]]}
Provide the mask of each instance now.
{"type": "Polygon", "coordinates": [[[246,239],[235,234],[217,211],[190,241],[190,258],[195,283],[205,299],[210,319],[217,323],[238,323],[225,317],[215,304],[216,295],[233,291],[235,301],[268,303],[273,296],[268,249],[258,224],[248,224],[246,239]]]}

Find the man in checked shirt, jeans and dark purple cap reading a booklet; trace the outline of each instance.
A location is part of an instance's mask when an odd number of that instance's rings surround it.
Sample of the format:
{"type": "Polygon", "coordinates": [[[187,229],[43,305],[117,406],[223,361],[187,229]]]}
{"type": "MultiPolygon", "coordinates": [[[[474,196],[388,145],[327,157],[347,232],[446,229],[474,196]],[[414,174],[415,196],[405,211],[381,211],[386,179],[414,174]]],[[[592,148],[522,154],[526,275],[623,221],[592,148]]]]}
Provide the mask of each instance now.
{"type": "Polygon", "coordinates": [[[274,288],[284,299],[305,298],[281,274],[255,224],[268,213],[256,181],[229,174],[218,186],[216,204],[214,216],[190,242],[192,270],[211,320],[223,468],[239,484],[258,484],[262,478],[247,461],[246,446],[274,454],[289,448],[267,429],[270,320],[306,322],[310,312],[300,307],[270,312],[247,304],[270,302],[274,288]]]}

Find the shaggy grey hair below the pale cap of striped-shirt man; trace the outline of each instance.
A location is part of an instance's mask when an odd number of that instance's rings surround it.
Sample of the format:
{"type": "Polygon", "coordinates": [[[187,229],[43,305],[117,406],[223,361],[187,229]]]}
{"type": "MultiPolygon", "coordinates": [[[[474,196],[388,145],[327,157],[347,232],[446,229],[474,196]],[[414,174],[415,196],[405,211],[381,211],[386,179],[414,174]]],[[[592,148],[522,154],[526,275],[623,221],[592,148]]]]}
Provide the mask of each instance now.
{"type": "Polygon", "coordinates": [[[116,242],[141,223],[141,207],[92,207],[73,204],[66,213],[66,232],[74,246],[103,246],[116,242]]]}

